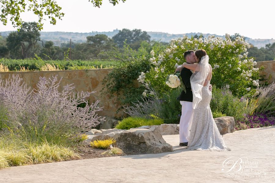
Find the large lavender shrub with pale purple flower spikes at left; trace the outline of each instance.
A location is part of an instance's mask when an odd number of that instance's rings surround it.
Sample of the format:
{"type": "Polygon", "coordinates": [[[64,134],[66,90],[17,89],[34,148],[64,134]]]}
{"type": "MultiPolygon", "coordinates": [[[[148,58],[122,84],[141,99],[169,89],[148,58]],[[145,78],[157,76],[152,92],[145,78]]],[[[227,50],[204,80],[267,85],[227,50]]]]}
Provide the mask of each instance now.
{"type": "Polygon", "coordinates": [[[40,77],[37,89],[30,91],[19,75],[0,77],[0,100],[8,108],[6,125],[28,140],[68,143],[104,120],[97,115],[102,110],[99,100],[91,105],[85,100],[94,91],[75,95],[75,86],[67,84],[59,92],[61,80],[57,75],[49,80],[40,77]],[[81,103],[85,107],[77,107],[81,103]]]}

